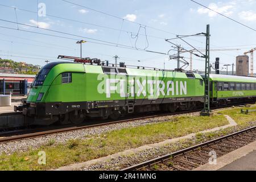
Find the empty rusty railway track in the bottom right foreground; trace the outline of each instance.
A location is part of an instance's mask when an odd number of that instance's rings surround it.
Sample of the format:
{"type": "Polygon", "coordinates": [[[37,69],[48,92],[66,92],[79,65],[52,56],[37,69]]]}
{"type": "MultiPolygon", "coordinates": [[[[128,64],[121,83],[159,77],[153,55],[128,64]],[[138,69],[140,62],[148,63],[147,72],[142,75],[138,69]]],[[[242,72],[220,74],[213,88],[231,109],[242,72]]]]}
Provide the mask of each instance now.
{"type": "Polygon", "coordinates": [[[210,156],[228,154],[256,140],[256,126],[160,156],[122,171],[190,171],[209,162],[210,156]]]}

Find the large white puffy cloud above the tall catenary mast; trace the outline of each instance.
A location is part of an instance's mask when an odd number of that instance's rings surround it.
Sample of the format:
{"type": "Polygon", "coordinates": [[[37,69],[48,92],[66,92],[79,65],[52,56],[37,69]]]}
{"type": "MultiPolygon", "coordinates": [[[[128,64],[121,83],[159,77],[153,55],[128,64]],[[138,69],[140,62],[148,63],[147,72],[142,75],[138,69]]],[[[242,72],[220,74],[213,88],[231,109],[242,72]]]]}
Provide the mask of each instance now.
{"type": "MultiPolygon", "coordinates": [[[[209,9],[217,11],[218,13],[224,14],[226,16],[232,15],[233,14],[232,9],[234,8],[233,5],[217,6],[216,3],[210,3],[210,5],[208,7],[209,7],[209,9]]],[[[210,18],[213,18],[214,16],[217,15],[217,13],[215,13],[214,11],[211,11],[209,9],[201,7],[197,10],[197,13],[208,14],[208,16],[210,18]]]]}

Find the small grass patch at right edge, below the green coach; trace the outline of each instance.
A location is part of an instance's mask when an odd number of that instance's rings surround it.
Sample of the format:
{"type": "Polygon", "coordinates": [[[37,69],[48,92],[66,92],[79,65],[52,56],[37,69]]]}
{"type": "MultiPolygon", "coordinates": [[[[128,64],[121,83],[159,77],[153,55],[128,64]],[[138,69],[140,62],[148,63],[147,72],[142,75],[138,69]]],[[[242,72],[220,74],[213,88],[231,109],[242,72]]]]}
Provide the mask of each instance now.
{"type": "Polygon", "coordinates": [[[256,121],[256,111],[250,112],[249,114],[242,114],[241,109],[254,110],[256,109],[256,106],[253,105],[251,107],[239,107],[237,109],[219,111],[218,113],[229,115],[240,126],[245,126],[248,122],[256,121]]]}

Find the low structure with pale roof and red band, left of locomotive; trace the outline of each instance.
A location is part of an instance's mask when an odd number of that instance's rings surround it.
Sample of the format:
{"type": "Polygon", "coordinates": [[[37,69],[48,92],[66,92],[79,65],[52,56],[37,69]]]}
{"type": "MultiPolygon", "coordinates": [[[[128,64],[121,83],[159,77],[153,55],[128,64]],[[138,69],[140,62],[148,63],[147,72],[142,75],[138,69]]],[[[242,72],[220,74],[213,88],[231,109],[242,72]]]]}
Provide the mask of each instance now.
{"type": "Polygon", "coordinates": [[[35,75],[0,73],[0,94],[27,94],[34,79],[35,75]]]}

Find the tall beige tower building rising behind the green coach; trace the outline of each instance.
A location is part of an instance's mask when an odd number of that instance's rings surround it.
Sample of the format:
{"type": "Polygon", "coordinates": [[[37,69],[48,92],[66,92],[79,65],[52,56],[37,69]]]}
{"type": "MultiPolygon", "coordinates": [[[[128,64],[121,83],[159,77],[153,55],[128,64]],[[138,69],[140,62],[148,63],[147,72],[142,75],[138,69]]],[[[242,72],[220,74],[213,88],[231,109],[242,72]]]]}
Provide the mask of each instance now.
{"type": "Polygon", "coordinates": [[[237,76],[249,76],[249,56],[237,56],[237,76]]]}

